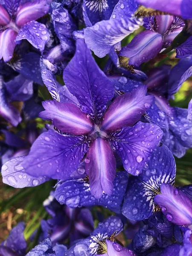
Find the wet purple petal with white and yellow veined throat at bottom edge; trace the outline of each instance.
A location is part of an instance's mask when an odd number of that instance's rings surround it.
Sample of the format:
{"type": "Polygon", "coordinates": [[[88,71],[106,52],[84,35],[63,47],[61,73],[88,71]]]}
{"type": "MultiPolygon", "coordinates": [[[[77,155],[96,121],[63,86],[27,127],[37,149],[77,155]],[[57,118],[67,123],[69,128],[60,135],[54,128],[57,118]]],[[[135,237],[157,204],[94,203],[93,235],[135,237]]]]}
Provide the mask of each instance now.
{"type": "Polygon", "coordinates": [[[115,236],[122,231],[122,221],[116,216],[107,218],[91,233],[87,239],[81,239],[76,242],[69,250],[66,256],[89,255],[107,253],[107,240],[115,241],[115,236]]]}

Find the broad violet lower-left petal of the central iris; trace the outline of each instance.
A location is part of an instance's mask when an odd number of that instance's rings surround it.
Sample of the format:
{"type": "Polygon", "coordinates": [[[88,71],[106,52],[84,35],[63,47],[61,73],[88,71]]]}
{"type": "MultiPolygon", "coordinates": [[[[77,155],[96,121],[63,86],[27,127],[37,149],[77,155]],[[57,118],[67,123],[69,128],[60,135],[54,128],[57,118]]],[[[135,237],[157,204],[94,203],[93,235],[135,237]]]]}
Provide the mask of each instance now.
{"type": "Polygon", "coordinates": [[[35,177],[66,179],[78,168],[87,150],[83,136],[65,137],[49,130],[33,143],[22,166],[35,177]]]}

